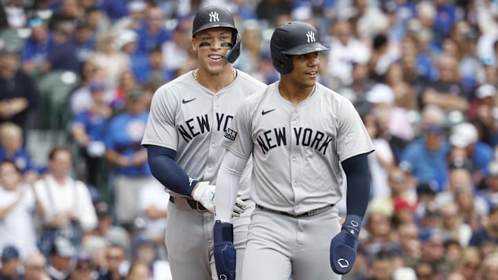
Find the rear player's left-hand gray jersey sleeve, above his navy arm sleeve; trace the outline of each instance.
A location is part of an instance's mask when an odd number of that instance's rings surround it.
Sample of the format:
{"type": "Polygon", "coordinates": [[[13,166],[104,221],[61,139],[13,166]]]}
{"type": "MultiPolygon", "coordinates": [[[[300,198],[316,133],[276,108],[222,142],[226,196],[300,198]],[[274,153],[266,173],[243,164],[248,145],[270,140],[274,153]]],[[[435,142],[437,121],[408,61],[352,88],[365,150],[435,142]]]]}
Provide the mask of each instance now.
{"type": "Polygon", "coordinates": [[[154,93],[142,145],[153,144],[176,151],[178,134],[175,128],[176,100],[173,93],[160,87],[154,93]]]}

